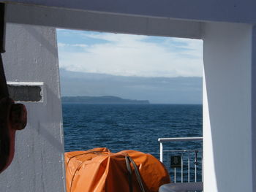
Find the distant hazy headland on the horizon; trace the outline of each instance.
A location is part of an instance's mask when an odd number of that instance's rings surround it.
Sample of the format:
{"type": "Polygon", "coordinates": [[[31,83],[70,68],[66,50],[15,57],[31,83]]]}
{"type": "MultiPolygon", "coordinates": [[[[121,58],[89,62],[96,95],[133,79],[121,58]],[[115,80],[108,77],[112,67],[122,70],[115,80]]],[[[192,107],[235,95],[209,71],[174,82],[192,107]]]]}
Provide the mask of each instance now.
{"type": "Polygon", "coordinates": [[[82,104],[150,104],[148,100],[122,99],[118,96],[63,96],[63,103],[82,104]]]}

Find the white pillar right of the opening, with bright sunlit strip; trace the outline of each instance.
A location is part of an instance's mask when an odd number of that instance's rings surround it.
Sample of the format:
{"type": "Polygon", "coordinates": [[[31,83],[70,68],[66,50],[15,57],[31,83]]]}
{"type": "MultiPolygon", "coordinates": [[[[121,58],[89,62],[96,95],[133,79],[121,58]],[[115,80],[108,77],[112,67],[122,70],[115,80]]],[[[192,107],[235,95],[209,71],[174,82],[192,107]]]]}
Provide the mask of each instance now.
{"type": "Polygon", "coordinates": [[[255,191],[252,26],[206,23],[203,41],[204,191],[255,191]]]}

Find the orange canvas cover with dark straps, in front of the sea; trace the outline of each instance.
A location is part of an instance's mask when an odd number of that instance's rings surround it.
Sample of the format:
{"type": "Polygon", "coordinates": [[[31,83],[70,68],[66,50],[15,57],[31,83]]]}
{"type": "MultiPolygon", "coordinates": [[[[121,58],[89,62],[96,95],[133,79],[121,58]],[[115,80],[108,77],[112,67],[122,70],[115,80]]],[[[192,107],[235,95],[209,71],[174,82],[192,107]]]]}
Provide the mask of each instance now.
{"type": "MultiPolygon", "coordinates": [[[[67,192],[130,192],[125,156],[135,161],[145,191],[157,192],[170,183],[165,166],[154,156],[135,150],[110,153],[107,148],[65,153],[67,192]]],[[[132,191],[140,192],[132,166],[132,191]]]]}

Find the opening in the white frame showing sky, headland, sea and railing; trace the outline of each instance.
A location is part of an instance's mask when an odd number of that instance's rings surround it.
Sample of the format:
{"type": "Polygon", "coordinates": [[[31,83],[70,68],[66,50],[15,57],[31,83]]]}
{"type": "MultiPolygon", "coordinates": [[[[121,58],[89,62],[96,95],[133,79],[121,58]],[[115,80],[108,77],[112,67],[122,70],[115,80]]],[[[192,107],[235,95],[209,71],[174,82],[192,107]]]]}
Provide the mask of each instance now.
{"type": "MultiPolygon", "coordinates": [[[[159,138],[202,137],[201,40],[57,34],[65,151],[108,147],[160,158],[159,138]]],[[[201,141],[162,144],[172,181],[202,181],[201,141]]]]}

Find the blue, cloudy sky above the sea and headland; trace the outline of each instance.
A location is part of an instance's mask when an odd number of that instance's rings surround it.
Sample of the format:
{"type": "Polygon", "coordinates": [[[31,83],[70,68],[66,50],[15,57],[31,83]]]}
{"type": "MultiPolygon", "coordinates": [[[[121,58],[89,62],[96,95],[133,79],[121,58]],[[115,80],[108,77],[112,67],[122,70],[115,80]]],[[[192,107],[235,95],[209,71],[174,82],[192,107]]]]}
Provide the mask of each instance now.
{"type": "Polygon", "coordinates": [[[57,38],[63,96],[202,102],[201,40],[64,29],[57,38]]]}

